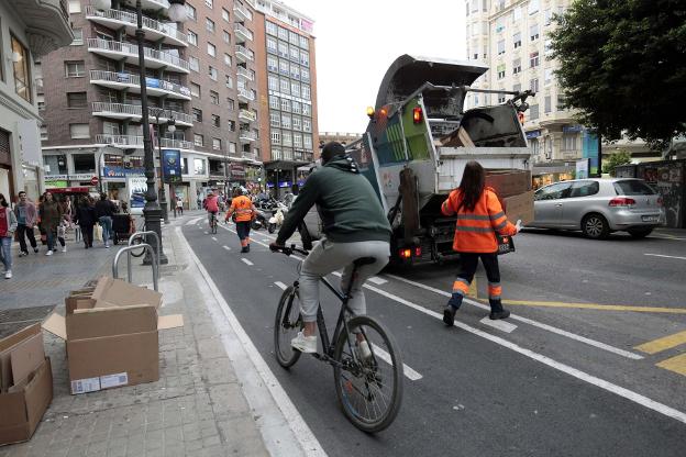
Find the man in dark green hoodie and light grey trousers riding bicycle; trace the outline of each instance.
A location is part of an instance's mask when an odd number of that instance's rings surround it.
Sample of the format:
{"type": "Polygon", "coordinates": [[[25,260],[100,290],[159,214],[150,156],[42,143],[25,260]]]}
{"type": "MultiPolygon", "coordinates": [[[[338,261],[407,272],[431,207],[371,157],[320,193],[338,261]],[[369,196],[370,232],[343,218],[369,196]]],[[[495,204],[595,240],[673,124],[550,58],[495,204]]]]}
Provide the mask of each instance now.
{"type": "MultiPolygon", "coordinates": [[[[302,353],[317,352],[320,278],[344,268],[341,288],[345,290],[351,281],[353,261],[374,257],[376,261],[357,269],[348,302],[355,314],[365,314],[362,286],[365,279],[386,266],[390,256],[390,224],[374,188],[359,174],[355,160],[345,154],[343,145],[331,142],[322,149],[321,164],[322,167],[312,172],[300,189],[276,242],[269,246],[273,250],[283,248],[310,208],[317,204],[324,236],[300,269],[300,312],[305,326],[291,341],[291,346],[302,353]]],[[[357,342],[363,356],[369,354],[361,334],[357,342]]]]}

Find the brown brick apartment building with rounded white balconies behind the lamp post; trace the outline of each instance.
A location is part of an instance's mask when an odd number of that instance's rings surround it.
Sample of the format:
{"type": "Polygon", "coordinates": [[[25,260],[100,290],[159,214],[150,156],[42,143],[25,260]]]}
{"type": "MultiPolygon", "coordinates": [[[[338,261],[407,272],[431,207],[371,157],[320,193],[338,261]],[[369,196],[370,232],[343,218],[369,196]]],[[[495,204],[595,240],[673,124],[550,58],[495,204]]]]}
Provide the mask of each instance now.
{"type": "MultiPolygon", "coordinates": [[[[38,70],[48,188],[129,201],[144,187],[134,5],[68,0],[75,40],[38,70]]],[[[180,151],[181,182],[167,189],[167,201],[174,194],[195,209],[209,189],[259,175],[253,8],[186,0],[187,18],[173,22],[167,0],[142,7],[156,167],[159,147],[180,151]]]]}

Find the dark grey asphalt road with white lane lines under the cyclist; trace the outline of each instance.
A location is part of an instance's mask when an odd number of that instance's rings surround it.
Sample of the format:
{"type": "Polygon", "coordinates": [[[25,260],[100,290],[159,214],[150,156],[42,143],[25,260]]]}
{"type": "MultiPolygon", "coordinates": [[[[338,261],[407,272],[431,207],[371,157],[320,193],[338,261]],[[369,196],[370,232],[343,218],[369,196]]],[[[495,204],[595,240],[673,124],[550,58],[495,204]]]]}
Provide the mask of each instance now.
{"type": "MultiPolygon", "coordinates": [[[[513,319],[500,328],[482,321],[486,311],[477,301],[461,309],[457,327],[446,328],[436,317],[455,265],[379,275],[368,282],[369,314],[390,328],[405,363],[422,378],[405,379],[396,422],[380,434],[366,435],[339,411],[328,365],[302,357],[287,371],[274,359],[273,320],[281,293],[275,282],[296,279],[297,260],[257,243],[242,255],[235,234],[223,226],[217,235],[206,232],[204,220],[182,227],[331,456],[684,453],[686,376],[655,366],[660,357],[678,356],[683,348],[646,355],[634,346],[683,332],[686,314],[600,306],[685,310],[686,260],[644,254],[686,257],[686,242],[589,242],[575,235],[522,234],[518,253],[502,257],[504,294],[555,306],[512,304],[513,319]],[[598,309],[567,305],[578,302],[598,309]]],[[[264,231],[254,238],[269,242],[264,231]]],[[[322,300],[333,303],[328,292],[322,300]]],[[[325,306],[329,322],[336,311],[325,306]]]]}

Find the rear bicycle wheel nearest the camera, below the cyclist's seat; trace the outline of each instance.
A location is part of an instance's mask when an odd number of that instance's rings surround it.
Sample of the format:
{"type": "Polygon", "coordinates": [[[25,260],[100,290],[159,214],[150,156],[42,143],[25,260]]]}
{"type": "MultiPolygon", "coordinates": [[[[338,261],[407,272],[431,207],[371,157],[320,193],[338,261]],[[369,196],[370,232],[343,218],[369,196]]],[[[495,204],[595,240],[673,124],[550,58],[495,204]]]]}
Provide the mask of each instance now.
{"type": "Polygon", "coordinates": [[[374,319],[355,316],[347,330],[340,333],[334,349],[336,395],[353,425],[380,432],[400,410],[402,357],[392,335],[374,319]]]}

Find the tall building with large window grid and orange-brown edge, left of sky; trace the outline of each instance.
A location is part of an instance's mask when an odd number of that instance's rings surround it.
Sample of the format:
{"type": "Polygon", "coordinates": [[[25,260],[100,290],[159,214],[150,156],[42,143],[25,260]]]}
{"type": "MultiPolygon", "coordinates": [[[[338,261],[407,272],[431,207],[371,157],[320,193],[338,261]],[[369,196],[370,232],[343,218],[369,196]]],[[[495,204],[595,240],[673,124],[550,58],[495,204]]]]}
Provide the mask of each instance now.
{"type": "Polygon", "coordinates": [[[278,1],[256,0],[255,10],[259,144],[266,185],[279,197],[303,183],[319,152],[313,21],[278,1]]]}

